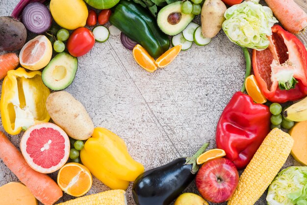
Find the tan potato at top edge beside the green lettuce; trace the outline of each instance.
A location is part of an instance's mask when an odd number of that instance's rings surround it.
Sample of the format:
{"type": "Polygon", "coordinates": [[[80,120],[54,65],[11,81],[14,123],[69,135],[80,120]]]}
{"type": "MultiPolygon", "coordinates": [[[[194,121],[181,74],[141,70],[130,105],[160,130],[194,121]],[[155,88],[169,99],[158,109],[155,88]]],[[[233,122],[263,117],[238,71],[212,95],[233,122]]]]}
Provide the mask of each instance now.
{"type": "Polygon", "coordinates": [[[213,38],[218,34],[225,21],[226,5],[221,0],[205,0],[202,7],[202,33],[205,38],[213,38]]]}

